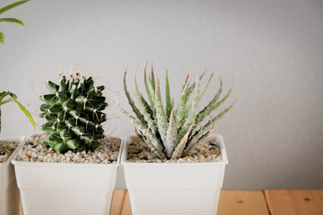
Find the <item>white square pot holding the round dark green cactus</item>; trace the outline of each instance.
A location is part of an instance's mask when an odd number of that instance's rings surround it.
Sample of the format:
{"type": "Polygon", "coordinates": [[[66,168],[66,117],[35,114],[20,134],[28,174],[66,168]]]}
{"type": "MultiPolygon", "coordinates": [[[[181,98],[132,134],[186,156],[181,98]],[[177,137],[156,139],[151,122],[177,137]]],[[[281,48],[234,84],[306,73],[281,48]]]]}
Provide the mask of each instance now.
{"type": "Polygon", "coordinates": [[[65,164],[13,159],[25,215],[107,215],[116,164],[65,164]]]}

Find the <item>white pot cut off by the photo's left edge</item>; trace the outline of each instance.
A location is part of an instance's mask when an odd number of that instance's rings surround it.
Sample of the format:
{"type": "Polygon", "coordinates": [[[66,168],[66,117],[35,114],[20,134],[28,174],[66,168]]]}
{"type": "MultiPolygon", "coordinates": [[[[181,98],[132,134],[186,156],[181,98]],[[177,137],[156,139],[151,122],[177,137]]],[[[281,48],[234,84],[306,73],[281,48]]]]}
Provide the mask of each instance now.
{"type": "Polygon", "coordinates": [[[14,175],[13,157],[22,147],[24,137],[0,137],[0,142],[21,142],[4,163],[0,163],[0,215],[19,214],[19,190],[14,175]]]}

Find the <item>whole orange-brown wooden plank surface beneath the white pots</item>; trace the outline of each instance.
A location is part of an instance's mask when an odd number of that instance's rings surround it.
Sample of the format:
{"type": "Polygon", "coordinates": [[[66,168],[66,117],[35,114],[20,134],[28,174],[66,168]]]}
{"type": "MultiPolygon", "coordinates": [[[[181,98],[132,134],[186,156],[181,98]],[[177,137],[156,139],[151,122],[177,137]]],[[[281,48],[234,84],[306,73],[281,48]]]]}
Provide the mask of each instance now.
{"type": "MultiPolygon", "coordinates": [[[[21,205],[22,209],[22,205],[21,205]]],[[[111,215],[132,215],[127,190],[113,193],[111,215]]],[[[322,215],[323,190],[229,191],[220,195],[218,215],[322,215]]],[[[20,211],[20,215],[23,212],[20,211]]]]}

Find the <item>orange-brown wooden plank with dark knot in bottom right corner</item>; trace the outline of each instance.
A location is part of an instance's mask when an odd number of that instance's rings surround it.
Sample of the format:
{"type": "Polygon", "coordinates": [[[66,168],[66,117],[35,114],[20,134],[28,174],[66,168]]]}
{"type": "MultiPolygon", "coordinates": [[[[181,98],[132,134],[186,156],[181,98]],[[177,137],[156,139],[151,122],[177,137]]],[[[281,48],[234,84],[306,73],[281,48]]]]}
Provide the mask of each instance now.
{"type": "Polygon", "coordinates": [[[266,190],[272,215],[322,215],[323,190],[266,190]]]}

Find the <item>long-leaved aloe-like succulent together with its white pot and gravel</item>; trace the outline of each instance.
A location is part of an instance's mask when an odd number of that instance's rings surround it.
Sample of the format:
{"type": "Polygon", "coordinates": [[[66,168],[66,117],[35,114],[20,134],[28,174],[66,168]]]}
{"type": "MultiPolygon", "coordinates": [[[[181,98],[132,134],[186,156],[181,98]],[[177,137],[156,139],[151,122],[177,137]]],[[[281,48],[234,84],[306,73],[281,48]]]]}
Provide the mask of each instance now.
{"type": "Polygon", "coordinates": [[[216,120],[231,109],[238,94],[229,107],[207,119],[229,97],[231,88],[220,99],[223,88],[220,77],[214,98],[198,111],[198,104],[213,77],[212,73],[200,90],[204,74],[196,73],[196,81],[190,84],[192,74],[188,73],[175,107],[166,73],[164,108],[160,80],[154,76],[153,66],[149,77],[146,66],[144,68],[148,99],[140,93],[134,73],[136,103],[127,90],[126,70],[124,90],[135,116],[121,107],[118,99],[117,105],[135,125],[137,134],[124,140],[121,158],[133,214],[216,214],[228,159],[222,136],[209,134],[216,120]]]}

